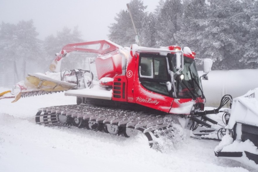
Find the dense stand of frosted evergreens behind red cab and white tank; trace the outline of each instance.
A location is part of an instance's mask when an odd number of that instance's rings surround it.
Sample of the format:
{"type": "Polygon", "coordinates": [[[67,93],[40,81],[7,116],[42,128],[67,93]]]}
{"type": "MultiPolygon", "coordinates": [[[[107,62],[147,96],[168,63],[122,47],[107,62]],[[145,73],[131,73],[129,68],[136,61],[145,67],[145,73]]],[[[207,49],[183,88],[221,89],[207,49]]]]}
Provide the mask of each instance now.
{"type": "MultiPolygon", "coordinates": [[[[212,58],[216,70],[257,68],[258,1],[207,2],[161,0],[148,14],[141,1],[131,1],[142,45],[188,46],[199,58],[212,58]]],[[[135,43],[128,11],[122,10],[115,19],[109,38],[123,46],[135,43]]]]}

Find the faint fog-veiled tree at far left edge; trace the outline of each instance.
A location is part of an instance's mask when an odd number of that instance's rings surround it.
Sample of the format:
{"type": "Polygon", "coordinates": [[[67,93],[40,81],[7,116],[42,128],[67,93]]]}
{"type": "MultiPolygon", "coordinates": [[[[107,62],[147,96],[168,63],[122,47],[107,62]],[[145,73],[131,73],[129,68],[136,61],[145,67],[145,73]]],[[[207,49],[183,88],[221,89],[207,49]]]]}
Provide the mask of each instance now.
{"type": "Polygon", "coordinates": [[[18,24],[2,22],[0,25],[0,53],[1,65],[15,74],[15,82],[25,78],[27,62],[36,62],[36,55],[40,54],[37,31],[33,20],[20,21],[18,24]],[[10,63],[13,66],[10,66],[10,63]],[[18,74],[17,68],[21,67],[22,75],[18,74]]]}

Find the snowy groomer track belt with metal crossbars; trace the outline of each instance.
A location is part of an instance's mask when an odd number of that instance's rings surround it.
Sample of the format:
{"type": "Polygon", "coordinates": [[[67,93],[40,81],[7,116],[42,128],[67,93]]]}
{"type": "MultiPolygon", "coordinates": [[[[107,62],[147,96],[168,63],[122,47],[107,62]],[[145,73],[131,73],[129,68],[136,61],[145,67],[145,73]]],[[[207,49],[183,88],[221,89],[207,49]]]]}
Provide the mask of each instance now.
{"type": "Polygon", "coordinates": [[[133,110],[122,110],[92,105],[65,105],[51,106],[39,109],[36,115],[36,123],[45,126],[67,126],[62,123],[59,115],[64,115],[80,120],[94,121],[99,124],[112,124],[124,129],[136,129],[145,134],[150,147],[155,142],[155,138],[164,134],[173,133],[172,118],[165,115],[156,115],[151,112],[137,112],[133,110]]]}

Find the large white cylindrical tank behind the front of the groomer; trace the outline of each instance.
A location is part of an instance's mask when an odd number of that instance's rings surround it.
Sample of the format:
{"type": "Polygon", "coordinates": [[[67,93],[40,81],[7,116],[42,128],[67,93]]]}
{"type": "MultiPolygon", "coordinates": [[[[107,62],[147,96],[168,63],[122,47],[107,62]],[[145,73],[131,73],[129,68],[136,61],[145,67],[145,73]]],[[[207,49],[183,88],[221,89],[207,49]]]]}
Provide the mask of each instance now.
{"type": "MultiPolygon", "coordinates": [[[[203,74],[202,71],[198,73],[199,76],[203,74]]],[[[235,98],[258,87],[258,69],[210,71],[208,77],[209,80],[202,80],[205,106],[218,107],[225,94],[235,98]]]]}

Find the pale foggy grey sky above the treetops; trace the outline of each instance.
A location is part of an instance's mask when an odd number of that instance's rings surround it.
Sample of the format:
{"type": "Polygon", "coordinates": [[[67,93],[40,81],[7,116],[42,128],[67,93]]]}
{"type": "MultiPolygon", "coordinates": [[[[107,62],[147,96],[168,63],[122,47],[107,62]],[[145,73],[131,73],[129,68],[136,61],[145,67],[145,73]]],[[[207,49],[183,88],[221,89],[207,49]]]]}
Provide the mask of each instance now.
{"type": "MultiPolygon", "coordinates": [[[[160,0],[143,0],[146,11],[153,12],[160,0]]],[[[82,39],[107,39],[108,26],[120,10],[126,10],[130,0],[0,0],[0,22],[17,24],[20,20],[33,20],[38,38],[56,35],[67,26],[77,26],[82,39]]],[[[131,21],[129,21],[131,22],[131,21]]]]}

